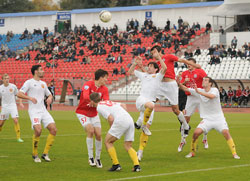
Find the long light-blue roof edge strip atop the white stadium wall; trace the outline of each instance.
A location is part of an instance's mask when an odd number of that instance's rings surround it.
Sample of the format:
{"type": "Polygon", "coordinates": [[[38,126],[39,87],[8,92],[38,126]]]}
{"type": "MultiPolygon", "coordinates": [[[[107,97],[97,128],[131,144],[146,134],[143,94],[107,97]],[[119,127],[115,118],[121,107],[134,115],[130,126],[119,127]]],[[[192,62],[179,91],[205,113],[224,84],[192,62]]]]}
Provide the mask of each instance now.
{"type": "MultiPolygon", "coordinates": [[[[93,9],[73,9],[71,14],[83,14],[83,13],[98,13],[105,9],[111,12],[115,11],[137,11],[137,10],[154,10],[154,9],[172,9],[172,8],[191,8],[191,7],[207,7],[207,6],[219,6],[223,1],[214,2],[198,2],[198,3],[183,3],[183,4],[161,4],[151,6],[128,6],[128,7],[114,7],[114,8],[93,8],[93,9]]],[[[23,12],[23,13],[4,13],[0,14],[0,18],[7,17],[20,17],[20,16],[49,16],[56,15],[58,11],[39,11],[39,12],[23,12]]]]}

